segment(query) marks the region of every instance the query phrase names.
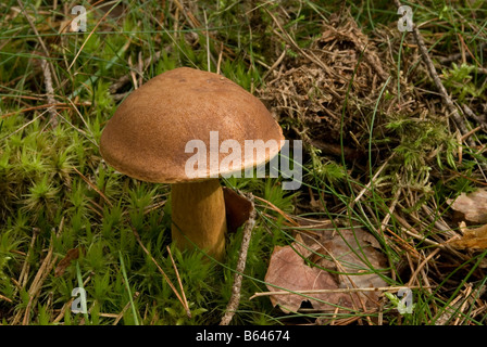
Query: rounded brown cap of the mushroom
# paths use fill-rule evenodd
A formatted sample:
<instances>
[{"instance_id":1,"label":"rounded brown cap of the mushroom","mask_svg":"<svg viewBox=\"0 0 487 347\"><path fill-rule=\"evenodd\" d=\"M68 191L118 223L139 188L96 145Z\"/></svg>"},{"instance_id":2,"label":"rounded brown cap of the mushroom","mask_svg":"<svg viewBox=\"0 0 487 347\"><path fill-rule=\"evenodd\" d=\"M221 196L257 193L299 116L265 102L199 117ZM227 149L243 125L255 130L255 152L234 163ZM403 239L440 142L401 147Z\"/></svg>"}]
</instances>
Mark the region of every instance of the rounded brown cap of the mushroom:
<instances>
[{"instance_id":1,"label":"rounded brown cap of the mushroom","mask_svg":"<svg viewBox=\"0 0 487 347\"><path fill-rule=\"evenodd\" d=\"M196 152L185 153L185 149L188 141L201 140L207 147L207 172L200 176L204 179L210 178L210 131L217 131L218 147L225 140L241 145L242 165L232 171L249 168L246 140L277 142L276 149L266 149L251 166L270 160L284 140L264 104L244 88L217 74L179 67L150 79L122 102L103 129L100 152L122 174L177 183L193 180L187 177L185 165ZM220 162L226 156L218 152Z\"/></svg>"}]
</instances>

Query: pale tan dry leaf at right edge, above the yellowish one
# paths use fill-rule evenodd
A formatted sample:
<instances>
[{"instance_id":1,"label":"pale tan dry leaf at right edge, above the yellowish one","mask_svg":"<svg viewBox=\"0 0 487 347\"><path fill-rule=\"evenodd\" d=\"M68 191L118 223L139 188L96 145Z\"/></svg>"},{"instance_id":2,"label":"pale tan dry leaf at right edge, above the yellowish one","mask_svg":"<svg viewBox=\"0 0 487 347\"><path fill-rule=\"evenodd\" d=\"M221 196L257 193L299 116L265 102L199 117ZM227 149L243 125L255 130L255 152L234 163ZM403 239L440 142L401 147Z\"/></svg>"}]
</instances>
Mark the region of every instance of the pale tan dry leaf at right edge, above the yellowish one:
<instances>
[{"instance_id":1,"label":"pale tan dry leaf at right edge, above the yellowish one","mask_svg":"<svg viewBox=\"0 0 487 347\"><path fill-rule=\"evenodd\" d=\"M463 215L465 220L474 223L487 223L487 190L461 193L455 201L449 200L451 208Z\"/></svg>"}]
</instances>

